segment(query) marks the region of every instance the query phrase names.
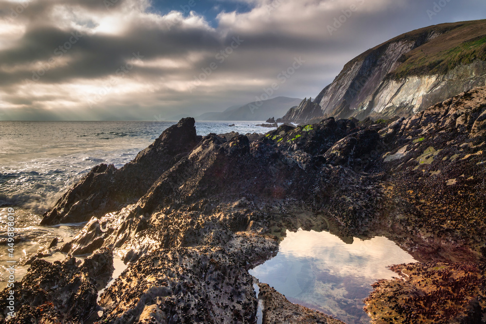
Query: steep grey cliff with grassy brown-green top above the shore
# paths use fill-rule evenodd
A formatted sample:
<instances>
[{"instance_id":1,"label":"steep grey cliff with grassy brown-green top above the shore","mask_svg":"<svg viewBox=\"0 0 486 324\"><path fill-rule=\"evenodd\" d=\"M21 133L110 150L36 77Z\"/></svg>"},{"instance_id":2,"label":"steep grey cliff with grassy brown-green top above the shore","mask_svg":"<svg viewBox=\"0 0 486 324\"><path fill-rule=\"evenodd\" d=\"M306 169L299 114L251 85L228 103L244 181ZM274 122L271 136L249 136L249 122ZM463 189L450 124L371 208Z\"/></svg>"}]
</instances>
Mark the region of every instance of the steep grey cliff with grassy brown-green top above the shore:
<instances>
[{"instance_id":1,"label":"steep grey cliff with grassy brown-green top above the shore","mask_svg":"<svg viewBox=\"0 0 486 324\"><path fill-rule=\"evenodd\" d=\"M358 119L410 117L486 79L486 20L442 24L400 35L351 60L314 103L282 121L316 115Z\"/></svg>"}]
</instances>

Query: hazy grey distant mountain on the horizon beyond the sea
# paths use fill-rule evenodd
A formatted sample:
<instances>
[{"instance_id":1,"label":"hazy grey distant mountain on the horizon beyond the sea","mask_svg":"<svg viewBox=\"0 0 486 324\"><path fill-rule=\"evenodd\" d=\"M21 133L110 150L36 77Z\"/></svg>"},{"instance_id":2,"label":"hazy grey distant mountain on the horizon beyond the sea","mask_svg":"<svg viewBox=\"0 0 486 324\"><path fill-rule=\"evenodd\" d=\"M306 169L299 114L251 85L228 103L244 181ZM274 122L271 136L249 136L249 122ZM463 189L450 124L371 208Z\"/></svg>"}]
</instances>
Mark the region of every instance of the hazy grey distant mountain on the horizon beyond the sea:
<instances>
[{"instance_id":1,"label":"hazy grey distant mountain on the horizon beyond the sea","mask_svg":"<svg viewBox=\"0 0 486 324\"><path fill-rule=\"evenodd\" d=\"M283 116L289 108L298 105L302 99L277 97L243 106L231 106L223 112L204 113L196 120L267 120Z\"/></svg>"}]
</instances>

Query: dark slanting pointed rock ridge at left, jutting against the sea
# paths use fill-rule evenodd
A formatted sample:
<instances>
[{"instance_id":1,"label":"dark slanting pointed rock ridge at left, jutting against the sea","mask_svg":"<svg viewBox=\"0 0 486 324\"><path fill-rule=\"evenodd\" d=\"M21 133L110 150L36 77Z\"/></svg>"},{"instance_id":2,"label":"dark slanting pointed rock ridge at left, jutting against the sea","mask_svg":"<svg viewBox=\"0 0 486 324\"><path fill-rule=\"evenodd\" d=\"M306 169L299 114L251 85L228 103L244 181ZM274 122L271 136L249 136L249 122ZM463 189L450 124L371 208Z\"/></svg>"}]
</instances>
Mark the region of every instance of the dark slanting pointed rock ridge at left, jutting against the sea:
<instances>
[{"instance_id":1,"label":"dark slanting pointed rock ridge at left, jutting against the sea","mask_svg":"<svg viewBox=\"0 0 486 324\"><path fill-rule=\"evenodd\" d=\"M92 216L99 217L133 204L164 171L189 153L199 139L194 119L181 119L121 169L105 164L94 167L43 215L41 225L86 222Z\"/></svg>"}]
</instances>

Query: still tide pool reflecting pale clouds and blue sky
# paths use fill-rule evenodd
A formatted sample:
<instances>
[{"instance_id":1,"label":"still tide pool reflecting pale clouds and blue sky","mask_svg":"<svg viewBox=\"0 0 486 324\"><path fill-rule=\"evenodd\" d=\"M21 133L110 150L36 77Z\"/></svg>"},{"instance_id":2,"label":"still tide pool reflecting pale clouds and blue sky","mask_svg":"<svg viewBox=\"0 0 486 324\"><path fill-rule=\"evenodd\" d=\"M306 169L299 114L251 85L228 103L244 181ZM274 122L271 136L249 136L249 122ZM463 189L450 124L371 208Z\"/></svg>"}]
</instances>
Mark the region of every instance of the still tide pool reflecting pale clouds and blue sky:
<instances>
[{"instance_id":1,"label":"still tide pool reflecting pale clouds and blue sky","mask_svg":"<svg viewBox=\"0 0 486 324\"><path fill-rule=\"evenodd\" d=\"M369 323L363 299L378 279L396 273L386 267L417 262L384 237L346 244L328 232L287 231L277 256L250 270L292 303L315 308L346 323Z\"/></svg>"}]
</instances>

